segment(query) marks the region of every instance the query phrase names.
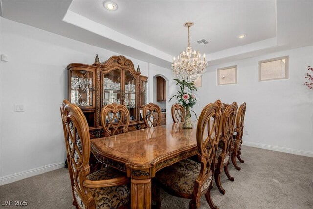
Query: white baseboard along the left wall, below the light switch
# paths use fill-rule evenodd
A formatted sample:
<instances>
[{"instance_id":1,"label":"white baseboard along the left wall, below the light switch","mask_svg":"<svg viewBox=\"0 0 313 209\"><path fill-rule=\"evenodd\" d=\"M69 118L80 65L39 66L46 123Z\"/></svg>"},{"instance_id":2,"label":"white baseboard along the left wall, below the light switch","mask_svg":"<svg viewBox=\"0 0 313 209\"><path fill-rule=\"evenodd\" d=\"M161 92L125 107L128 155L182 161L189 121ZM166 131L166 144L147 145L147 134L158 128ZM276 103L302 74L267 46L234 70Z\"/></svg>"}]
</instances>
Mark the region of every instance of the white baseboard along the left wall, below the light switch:
<instances>
[{"instance_id":1,"label":"white baseboard along the left wall, below the light switch","mask_svg":"<svg viewBox=\"0 0 313 209\"><path fill-rule=\"evenodd\" d=\"M5 185L5 184L9 184L11 182L15 182L15 181L19 181L21 179L25 179L28 177L32 177L32 176L36 176L39 174L43 174L52 170L56 170L59 168L64 167L64 162L60 162L60 163L53 163L53 164L49 164L49 165L45 165L42 167L38 167L38 168L34 168L31 170L27 170L27 171L22 171L19 173L15 173L15 174L11 174L11 175L7 175L7 176L3 176L0 178L0 185Z\"/></svg>"}]
</instances>

